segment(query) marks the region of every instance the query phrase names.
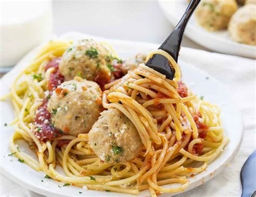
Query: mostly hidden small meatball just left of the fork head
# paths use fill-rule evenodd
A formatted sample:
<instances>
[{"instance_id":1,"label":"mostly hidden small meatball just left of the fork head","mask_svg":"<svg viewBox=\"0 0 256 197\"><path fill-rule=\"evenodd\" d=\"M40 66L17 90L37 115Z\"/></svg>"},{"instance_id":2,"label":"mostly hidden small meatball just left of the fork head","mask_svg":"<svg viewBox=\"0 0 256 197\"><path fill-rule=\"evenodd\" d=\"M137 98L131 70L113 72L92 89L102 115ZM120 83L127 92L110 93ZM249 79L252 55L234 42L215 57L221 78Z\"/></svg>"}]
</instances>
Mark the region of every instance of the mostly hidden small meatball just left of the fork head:
<instances>
[{"instance_id":1,"label":"mostly hidden small meatball just left of the fork head","mask_svg":"<svg viewBox=\"0 0 256 197\"><path fill-rule=\"evenodd\" d=\"M136 69L140 63L146 63L146 53L138 53L135 58L127 59L123 62L121 71L125 75L128 71Z\"/></svg>"}]
</instances>

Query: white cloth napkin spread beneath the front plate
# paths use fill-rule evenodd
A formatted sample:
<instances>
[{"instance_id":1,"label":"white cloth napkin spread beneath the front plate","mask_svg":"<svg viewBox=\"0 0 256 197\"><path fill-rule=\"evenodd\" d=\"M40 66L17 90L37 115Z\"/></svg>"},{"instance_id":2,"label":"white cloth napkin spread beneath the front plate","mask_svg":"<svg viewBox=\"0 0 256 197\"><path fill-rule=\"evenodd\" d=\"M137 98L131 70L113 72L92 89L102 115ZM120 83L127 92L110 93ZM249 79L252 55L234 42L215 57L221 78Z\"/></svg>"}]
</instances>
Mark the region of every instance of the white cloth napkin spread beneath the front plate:
<instances>
[{"instance_id":1,"label":"white cloth napkin spread beneath the front plate","mask_svg":"<svg viewBox=\"0 0 256 197\"><path fill-rule=\"evenodd\" d=\"M255 52L256 57L256 52ZM244 139L237 156L223 172L205 184L177 196L240 196L241 167L254 151L256 61L182 47L180 59L197 66L225 84L239 104L244 119ZM252 172L253 173L253 172ZM255 173L255 172L254 172ZM256 176L255 176L256 177ZM1 174L1 196L42 196L19 186Z\"/></svg>"}]
</instances>

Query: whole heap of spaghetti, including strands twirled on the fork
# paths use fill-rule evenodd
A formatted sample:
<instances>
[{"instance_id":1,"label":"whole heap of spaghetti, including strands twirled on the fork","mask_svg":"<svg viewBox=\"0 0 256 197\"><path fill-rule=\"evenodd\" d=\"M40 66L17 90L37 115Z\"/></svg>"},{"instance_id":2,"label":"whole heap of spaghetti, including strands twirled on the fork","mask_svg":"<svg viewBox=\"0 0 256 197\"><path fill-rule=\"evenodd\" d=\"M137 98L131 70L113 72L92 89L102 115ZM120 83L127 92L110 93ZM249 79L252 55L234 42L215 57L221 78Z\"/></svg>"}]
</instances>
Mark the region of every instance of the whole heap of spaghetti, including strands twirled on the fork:
<instances>
[{"instance_id":1,"label":"whole heap of spaghetti, including strands twirled on the fork","mask_svg":"<svg viewBox=\"0 0 256 197\"><path fill-rule=\"evenodd\" d=\"M137 158L107 164L93 153L86 133L76 137L60 132L40 140L33 132L37 110L44 106L45 92L49 94L53 86L63 82L54 63L69 46L69 42L50 42L11 86L16 118L11 123L15 133L10 148L32 168L73 186L129 194L149 189L156 196L184 191L190 184L188 177L204 171L227 144L219 108L187 89L180 81L179 66L162 50L152 51L147 59L156 53L169 59L176 71L173 80L140 64L123 78L106 84L103 93L103 107L117 108L136 127L144 145ZM51 80L56 76L58 80ZM27 141L38 160L19 151L17 139ZM65 175L56 171L57 165ZM163 187L166 184L179 186Z\"/></svg>"}]
</instances>

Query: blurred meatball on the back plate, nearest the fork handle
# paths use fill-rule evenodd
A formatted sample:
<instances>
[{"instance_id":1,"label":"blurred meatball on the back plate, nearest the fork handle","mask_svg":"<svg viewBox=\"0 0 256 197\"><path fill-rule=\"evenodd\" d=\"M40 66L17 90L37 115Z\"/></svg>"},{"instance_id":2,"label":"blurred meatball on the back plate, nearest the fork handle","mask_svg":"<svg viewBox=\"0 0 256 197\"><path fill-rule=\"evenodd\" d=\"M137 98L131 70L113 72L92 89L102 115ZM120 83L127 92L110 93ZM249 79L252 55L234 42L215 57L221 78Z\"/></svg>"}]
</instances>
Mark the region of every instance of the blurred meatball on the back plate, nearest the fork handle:
<instances>
[{"instance_id":1,"label":"blurred meatball on the back plate, nearest the fork handle","mask_svg":"<svg viewBox=\"0 0 256 197\"><path fill-rule=\"evenodd\" d=\"M235 0L203 0L196 10L196 18L209 31L221 30L227 27L237 8Z\"/></svg>"}]
</instances>

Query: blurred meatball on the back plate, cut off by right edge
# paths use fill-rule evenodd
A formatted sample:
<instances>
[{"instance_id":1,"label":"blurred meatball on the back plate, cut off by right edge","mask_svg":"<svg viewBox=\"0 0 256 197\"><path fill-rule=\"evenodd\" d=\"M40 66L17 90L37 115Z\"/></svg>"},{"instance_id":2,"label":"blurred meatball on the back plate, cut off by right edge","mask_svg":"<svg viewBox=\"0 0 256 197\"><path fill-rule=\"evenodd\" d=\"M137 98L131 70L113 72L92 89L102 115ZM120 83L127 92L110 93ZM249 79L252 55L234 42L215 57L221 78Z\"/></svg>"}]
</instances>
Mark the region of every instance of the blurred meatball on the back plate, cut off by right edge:
<instances>
[{"instance_id":1,"label":"blurred meatball on the back plate, cut off by right edge","mask_svg":"<svg viewBox=\"0 0 256 197\"><path fill-rule=\"evenodd\" d=\"M247 4L238 9L228 24L228 32L235 42L256 45L256 5Z\"/></svg>"}]
</instances>

